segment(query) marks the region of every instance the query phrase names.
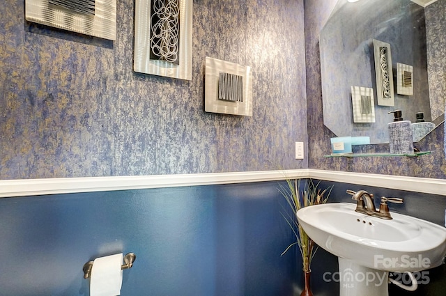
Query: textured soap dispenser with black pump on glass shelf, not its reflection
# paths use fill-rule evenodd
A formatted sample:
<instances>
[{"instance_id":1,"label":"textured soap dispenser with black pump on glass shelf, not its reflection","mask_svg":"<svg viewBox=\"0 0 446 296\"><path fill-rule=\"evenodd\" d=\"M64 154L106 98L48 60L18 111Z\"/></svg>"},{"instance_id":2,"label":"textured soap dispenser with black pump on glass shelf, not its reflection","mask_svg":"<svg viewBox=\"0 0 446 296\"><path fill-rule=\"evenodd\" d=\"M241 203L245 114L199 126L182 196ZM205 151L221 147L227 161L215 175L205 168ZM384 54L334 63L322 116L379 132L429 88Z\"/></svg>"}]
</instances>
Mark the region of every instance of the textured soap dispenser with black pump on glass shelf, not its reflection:
<instances>
[{"instance_id":1,"label":"textured soap dispenser with black pump on glass shelf, not its reflection","mask_svg":"<svg viewBox=\"0 0 446 296\"><path fill-rule=\"evenodd\" d=\"M413 154L413 133L410 120L403 120L401 110L390 111L394 114L392 123L389 123L390 153Z\"/></svg>"}]
</instances>

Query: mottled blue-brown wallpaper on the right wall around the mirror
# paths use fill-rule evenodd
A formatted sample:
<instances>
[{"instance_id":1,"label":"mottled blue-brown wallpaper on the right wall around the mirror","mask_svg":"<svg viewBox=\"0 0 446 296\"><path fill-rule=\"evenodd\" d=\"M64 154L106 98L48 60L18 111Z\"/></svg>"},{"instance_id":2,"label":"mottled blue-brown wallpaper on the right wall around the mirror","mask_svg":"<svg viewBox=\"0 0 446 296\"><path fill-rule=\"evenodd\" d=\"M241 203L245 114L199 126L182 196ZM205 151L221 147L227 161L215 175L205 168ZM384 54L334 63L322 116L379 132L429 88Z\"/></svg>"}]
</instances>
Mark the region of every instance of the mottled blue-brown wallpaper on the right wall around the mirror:
<instances>
[{"instance_id":1,"label":"mottled blue-brown wallpaper on the right wall around the mirror","mask_svg":"<svg viewBox=\"0 0 446 296\"><path fill-rule=\"evenodd\" d=\"M330 137L336 137L323 125L319 32L328 20L337 0L305 0L305 54L307 70L307 116L309 134L309 168L358 173L382 173L396 176L446 178L443 149L444 125L440 125L415 146L431 155L408 157L325 158L331 153ZM333 110L339 112L339 110ZM356 153L389 152L388 144L354 146Z\"/></svg>"}]
</instances>

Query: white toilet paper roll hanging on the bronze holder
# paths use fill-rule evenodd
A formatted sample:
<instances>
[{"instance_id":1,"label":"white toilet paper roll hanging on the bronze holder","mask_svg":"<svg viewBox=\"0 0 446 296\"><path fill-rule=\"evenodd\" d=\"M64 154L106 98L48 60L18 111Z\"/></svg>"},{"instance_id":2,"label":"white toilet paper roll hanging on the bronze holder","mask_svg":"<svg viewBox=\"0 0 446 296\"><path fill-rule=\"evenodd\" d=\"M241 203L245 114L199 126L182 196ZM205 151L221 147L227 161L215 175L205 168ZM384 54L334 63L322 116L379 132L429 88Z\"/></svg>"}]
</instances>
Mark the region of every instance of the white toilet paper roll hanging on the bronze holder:
<instances>
[{"instance_id":1,"label":"white toilet paper roll hanging on the bronze holder","mask_svg":"<svg viewBox=\"0 0 446 296\"><path fill-rule=\"evenodd\" d=\"M96 258L91 268L90 296L120 295L123 282L122 264L122 253Z\"/></svg>"}]
</instances>

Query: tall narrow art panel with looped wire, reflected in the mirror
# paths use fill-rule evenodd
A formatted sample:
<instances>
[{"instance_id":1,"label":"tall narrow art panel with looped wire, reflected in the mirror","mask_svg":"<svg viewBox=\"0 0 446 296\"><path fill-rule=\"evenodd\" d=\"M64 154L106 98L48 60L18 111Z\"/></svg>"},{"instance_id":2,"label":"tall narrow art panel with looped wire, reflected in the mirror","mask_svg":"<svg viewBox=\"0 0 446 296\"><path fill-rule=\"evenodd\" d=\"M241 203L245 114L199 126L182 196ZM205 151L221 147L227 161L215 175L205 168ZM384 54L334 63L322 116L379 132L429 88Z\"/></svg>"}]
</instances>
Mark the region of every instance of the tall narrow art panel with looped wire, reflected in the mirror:
<instances>
[{"instance_id":1,"label":"tall narrow art panel with looped wire, reflected in the mirror","mask_svg":"<svg viewBox=\"0 0 446 296\"><path fill-rule=\"evenodd\" d=\"M392 54L390 44L374 39L376 95L378 105L394 106Z\"/></svg>"}]
</instances>

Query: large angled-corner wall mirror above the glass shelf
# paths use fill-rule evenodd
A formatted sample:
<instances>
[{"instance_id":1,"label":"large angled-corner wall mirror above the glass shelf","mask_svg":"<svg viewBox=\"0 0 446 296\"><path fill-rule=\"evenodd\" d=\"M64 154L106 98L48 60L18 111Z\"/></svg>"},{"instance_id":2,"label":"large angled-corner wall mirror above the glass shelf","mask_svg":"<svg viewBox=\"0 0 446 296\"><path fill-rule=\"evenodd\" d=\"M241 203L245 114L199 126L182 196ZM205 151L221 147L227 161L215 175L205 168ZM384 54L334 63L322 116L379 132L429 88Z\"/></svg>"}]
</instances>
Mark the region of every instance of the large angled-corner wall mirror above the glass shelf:
<instances>
[{"instance_id":1,"label":"large angled-corner wall mirror above the glass shelf","mask_svg":"<svg viewBox=\"0 0 446 296\"><path fill-rule=\"evenodd\" d=\"M426 7L420 5L422 1L426 0L337 2L319 38L323 121L337 137L368 136L370 143L388 143L387 124L393 120L388 112L395 109L401 109L403 118L412 123L417 112L423 112L424 119L437 126L444 121L446 0L429 0L431 4ZM385 106L382 100L378 104L380 83L376 83L374 40L375 47L389 47L388 73L393 83L388 85L393 91L394 106ZM404 70L407 65L412 67L410 75L409 70ZM406 77L410 76L410 80L406 79L410 84L401 82L401 72L397 75L401 69ZM400 94L399 90L408 85L413 95ZM374 122L357 117L354 122L353 102L366 96L352 86L367 89L366 93L371 94L367 98L373 96L371 106L359 112L370 112L372 108ZM370 100L364 102L370 104Z\"/></svg>"}]
</instances>

